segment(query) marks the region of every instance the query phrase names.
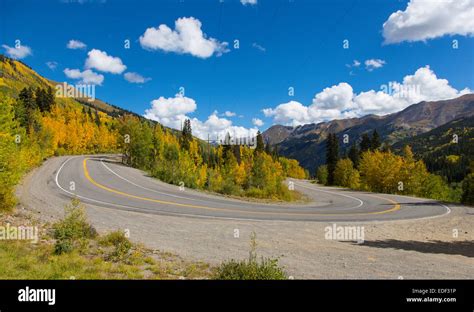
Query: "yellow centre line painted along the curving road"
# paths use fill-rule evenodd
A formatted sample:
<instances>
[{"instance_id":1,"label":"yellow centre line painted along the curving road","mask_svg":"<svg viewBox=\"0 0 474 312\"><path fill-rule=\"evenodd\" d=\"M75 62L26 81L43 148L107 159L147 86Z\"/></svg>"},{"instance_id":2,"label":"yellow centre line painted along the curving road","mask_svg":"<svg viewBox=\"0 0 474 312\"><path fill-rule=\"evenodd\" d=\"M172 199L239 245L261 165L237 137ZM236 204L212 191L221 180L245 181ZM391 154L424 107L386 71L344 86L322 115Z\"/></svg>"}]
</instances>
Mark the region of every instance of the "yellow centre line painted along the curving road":
<instances>
[{"instance_id":1,"label":"yellow centre line painted along the curving road","mask_svg":"<svg viewBox=\"0 0 474 312\"><path fill-rule=\"evenodd\" d=\"M225 208L216 208L216 207L207 207L207 206L199 206L199 205L191 205L191 204L182 204L182 203L176 203L176 202L169 202L169 201L164 201L164 200L158 200L154 198L148 198L148 197L141 197L141 196L136 196L132 194L128 194L122 191L118 191L112 188L109 188L105 185L102 185L98 182L96 182L94 179L89 174L89 170L87 169L87 160L90 158L84 158L84 161L82 163L82 166L84 168L84 175L89 182L91 182L93 185L97 186L98 188L101 188L103 190L106 190L111 193L119 194L125 197L129 198L135 198L135 199L140 199L144 201L149 201L149 202L154 202L154 203L160 203L160 204L166 204L166 205L173 205L173 206L180 206L180 207L187 207L187 208L195 208L195 209L204 209L204 210L212 210L212 211L225 211L225 212L241 212L241 213L249 213L249 214L283 214L283 215L294 215L294 216L315 216L315 215L320 215L320 216L350 216L350 215L371 215L371 214L383 214L383 213L389 213L389 212L394 212L400 209L400 204L397 203L396 201L393 201L388 198L383 198L379 197L377 195L367 195L367 196L372 196L372 197L377 197L386 201L389 201L394 204L394 206L391 209L388 210L383 210L383 211L375 211L375 212L360 212L360 213L350 213L350 214L329 214L329 213L296 213L296 212L265 212L265 211L246 211L246 210L234 210L234 209L225 209Z\"/></svg>"}]
</instances>

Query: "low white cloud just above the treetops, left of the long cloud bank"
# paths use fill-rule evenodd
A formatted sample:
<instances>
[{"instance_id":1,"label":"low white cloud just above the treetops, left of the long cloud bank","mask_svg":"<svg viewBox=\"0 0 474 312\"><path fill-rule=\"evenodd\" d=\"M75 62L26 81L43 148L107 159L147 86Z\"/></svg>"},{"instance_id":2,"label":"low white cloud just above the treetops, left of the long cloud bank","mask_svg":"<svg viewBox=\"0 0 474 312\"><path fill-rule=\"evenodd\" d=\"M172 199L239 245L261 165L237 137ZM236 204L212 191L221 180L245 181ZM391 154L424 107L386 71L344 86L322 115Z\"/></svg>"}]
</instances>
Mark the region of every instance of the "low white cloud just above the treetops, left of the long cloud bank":
<instances>
[{"instance_id":1,"label":"low white cloud just above the treetops, left of the long cloud bank","mask_svg":"<svg viewBox=\"0 0 474 312\"><path fill-rule=\"evenodd\" d=\"M151 102L152 107L145 110L144 117L156 120L159 123L174 129L180 129L185 119L191 120L193 134L203 140L208 135L211 139L224 138L227 132L232 137L255 136L257 128L245 128L234 126L232 121L226 118L220 118L214 111L208 116L207 120L201 121L197 118L191 118L187 114L193 113L197 109L196 102L184 96L177 94L173 98L160 97Z\"/></svg>"}]
</instances>

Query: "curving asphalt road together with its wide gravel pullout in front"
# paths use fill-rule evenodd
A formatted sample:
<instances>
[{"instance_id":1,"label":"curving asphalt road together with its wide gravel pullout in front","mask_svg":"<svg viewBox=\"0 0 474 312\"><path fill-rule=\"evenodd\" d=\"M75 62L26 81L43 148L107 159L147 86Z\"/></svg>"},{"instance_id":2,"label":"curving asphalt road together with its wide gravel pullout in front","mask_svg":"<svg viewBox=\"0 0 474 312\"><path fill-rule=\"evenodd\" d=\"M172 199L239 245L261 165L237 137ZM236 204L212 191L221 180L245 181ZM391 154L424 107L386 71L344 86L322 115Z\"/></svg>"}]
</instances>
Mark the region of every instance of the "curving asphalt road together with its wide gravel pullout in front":
<instances>
[{"instance_id":1,"label":"curving asphalt road together with its wide gravel pullout in front","mask_svg":"<svg viewBox=\"0 0 474 312\"><path fill-rule=\"evenodd\" d=\"M313 199L307 205L252 204L179 191L110 158L89 157L89 179L86 158L54 157L30 172L17 188L20 209L55 222L77 194L99 232L127 230L134 242L151 249L216 265L248 257L255 232L258 254L279 257L295 278L474 277L474 211L469 207L449 205L448 210L429 200L305 181L294 182ZM364 243L327 239L327 227L336 224L365 228Z\"/></svg>"}]
</instances>

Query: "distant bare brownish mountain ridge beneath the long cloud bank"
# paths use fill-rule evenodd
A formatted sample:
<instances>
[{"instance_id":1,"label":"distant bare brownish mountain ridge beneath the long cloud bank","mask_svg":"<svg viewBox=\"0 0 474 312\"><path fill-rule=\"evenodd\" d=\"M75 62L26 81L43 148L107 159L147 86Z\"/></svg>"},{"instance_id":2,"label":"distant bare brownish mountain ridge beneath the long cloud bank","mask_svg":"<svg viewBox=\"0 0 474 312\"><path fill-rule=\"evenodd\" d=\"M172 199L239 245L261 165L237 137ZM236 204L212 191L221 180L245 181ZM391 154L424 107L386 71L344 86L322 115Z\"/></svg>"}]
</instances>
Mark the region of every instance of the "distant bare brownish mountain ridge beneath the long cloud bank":
<instances>
[{"instance_id":1,"label":"distant bare brownish mountain ridge beneath the long cloud bank","mask_svg":"<svg viewBox=\"0 0 474 312\"><path fill-rule=\"evenodd\" d=\"M451 100L420 102L385 116L367 115L294 128L276 125L263 132L263 137L271 145L277 145L282 156L297 159L314 173L315 168L325 162L325 141L331 132L338 134L344 153L362 134L373 130L377 130L384 142L394 144L454 119L473 115L474 94L466 94ZM342 142L344 134L349 136L348 144Z\"/></svg>"}]
</instances>

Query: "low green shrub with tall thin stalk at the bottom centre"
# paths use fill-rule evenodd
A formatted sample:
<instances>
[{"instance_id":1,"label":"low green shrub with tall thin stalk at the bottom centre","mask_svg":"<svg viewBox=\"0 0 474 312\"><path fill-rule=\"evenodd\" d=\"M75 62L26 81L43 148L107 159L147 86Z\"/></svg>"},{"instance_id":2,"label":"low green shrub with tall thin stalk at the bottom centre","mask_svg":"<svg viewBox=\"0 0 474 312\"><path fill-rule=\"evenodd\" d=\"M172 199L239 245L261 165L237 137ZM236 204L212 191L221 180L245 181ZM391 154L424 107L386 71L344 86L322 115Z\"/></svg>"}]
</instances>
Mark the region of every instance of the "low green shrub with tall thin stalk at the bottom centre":
<instances>
[{"instance_id":1,"label":"low green shrub with tall thin stalk at the bottom centre","mask_svg":"<svg viewBox=\"0 0 474 312\"><path fill-rule=\"evenodd\" d=\"M223 262L215 272L219 280L284 280L287 274L279 266L277 258L260 258L256 253L256 235L252 233L247 260Z\"/></svg>"}]
</instances>

